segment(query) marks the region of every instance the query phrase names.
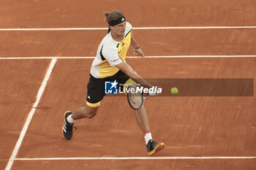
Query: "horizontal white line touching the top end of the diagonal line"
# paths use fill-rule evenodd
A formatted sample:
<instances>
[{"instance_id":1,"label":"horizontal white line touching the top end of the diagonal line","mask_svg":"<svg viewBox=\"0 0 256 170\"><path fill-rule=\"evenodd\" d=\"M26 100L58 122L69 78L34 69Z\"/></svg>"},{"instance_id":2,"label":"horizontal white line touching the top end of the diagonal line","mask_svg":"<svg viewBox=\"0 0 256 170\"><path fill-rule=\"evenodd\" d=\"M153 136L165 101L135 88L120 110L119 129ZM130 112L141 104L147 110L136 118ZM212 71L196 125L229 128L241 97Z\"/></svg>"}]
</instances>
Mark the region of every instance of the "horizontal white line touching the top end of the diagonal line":
<instances>
[{"instance_id":1,"label":"horizontal white line touching the top end of the diagonal line","mask_svg":"<svg viewBox=\"0 0 256 170\"><path fill-rule=\"evenodd\" d=\"M146 58L253 58L256 55L162 55L146 56ZM0 60L29 60L29 59L93 59L95 56L69 56L69 57L0 57ZM140 58L127 56L126 58Z\"/></svg>"}]
</instances>

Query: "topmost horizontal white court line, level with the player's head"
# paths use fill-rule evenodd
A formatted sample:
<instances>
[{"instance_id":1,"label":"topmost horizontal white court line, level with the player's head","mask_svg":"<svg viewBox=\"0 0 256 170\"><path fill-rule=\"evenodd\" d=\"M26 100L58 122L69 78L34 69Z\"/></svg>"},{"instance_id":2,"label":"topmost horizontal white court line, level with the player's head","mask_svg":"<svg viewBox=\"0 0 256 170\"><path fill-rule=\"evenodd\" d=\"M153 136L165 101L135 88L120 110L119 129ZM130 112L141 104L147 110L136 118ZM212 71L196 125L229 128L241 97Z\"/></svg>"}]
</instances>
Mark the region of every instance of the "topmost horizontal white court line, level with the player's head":
<instances>
[{"instance_id":1,"label":"topmost horizontal white court line, level with the player's head","mask_svg":"<svg viewBox=\"0 0 256 170\"><path fill-rule=\"evenodd\" d=\"M238 29L256 28L256 26L168 26L168 27L134 27L132 29ZM0 31L96 31L108 28L0 28Z\"/></svg>"}]
</instances>

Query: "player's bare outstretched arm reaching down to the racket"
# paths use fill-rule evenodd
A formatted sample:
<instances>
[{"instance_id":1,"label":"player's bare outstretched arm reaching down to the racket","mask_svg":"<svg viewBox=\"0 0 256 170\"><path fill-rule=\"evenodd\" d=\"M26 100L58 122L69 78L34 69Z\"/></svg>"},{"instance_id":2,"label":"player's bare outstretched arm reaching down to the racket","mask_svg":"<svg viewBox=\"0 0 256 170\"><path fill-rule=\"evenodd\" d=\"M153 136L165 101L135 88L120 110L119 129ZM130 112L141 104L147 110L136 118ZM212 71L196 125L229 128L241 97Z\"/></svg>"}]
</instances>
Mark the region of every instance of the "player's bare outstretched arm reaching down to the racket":
<instances>
[{"instance_id":1,"label":"player's bare outstretched arm reaching down to the racket","mask_svg":"<svg viewBox=\"0 0 256 170\"><path fill-rule=\"evenodd\" d=\"M146 82L146 80L144 80L143 77L140 77L140 75L137 72L135 72L127 62L123 61L121 63L118 63L116 66L118 67L118 69L124 72L124 74L127 74L127 76L129 76L133 81L142 85L143 87L145 88L153 87L153 85Z\"/></svg>"}]
</instances>

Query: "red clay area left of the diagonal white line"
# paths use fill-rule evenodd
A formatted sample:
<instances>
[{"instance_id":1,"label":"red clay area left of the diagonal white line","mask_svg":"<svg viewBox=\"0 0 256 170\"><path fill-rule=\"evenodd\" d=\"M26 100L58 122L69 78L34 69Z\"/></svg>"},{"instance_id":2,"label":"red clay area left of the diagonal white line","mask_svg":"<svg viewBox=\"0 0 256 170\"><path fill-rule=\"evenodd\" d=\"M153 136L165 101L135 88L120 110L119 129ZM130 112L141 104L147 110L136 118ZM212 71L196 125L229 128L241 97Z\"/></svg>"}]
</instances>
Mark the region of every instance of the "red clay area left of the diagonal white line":
<instances>
[{"instance_id":1,"label":"red clay area left of the diagonal white line","mask_svg":"<svg viewBox=\"0 0 256 170\"><path fill-rule=\"evenodd\" d=\"M42 60L0 61L0 160L9 160L48 64Z\"/></svg>"}]
</instances>

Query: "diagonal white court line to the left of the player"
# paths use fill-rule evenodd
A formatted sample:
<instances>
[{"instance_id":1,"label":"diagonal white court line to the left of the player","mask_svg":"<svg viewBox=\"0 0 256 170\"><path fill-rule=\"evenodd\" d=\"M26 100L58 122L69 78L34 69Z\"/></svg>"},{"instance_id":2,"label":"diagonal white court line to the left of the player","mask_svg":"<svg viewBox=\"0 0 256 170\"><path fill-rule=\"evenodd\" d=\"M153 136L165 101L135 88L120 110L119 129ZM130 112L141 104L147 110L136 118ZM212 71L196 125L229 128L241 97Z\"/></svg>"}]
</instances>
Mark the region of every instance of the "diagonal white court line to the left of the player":
<instances>
[{"instance_id":1,"label":"diagonal white court line to the left of the player","mask_svg":"<svg viewBox=\"0 0 256 170\"><path fill-rule=\"evenodd\" d=\"M23 138L24 138L24 136L25 136L25 134L26 134L26 131L27 131L28 128L29 128L29 123L31 122L31 119L32 119L32 117L33 117L33 115L34 115L34 111L35 111L36 108L37 108L37 105L38 105L38 103L39 103L39 101L40 101L40 98L42 97L42 93L43 93L44 90L45 90L45 86L46 86L46 84L47 84L47 82L48 82L48 80L49 80L49 78L50 78L50 74L51 74L51 72L53 71L53 67L55 66L56 61L57 61L57 59L53 59L53 60L50 62L50 65L49 65L49 67L48 67L48 70L47 70L47 72L46 72L46 74L45 74L45 78L44 78L44 80L42 81L41 87L39 88L39 90L38 90L38 92L37 92L37 101L34 102L33 107L31 108L31 110L30 110L30 112L29 112L29 116L28 116L27 119L26 119L26 123L25 123L25 125L23 126L23 129L22 129L22 131L21 131L21 133L20 133L19 139L18 139L18 141L17 141L17 143L16 143L16 145L15 145L14 150L12 151L12 155L11 155L11 157L10 157L8 163L7 163L7 166L6 166L5 170L10 170L10 169L12 168L12 163L13 163L13 161L15 161L15 158L16 158L16 155L17 155L17 153L18 153L18 150L20 149L21 142L23 141Z\"/></svg>"}]
</instances>

